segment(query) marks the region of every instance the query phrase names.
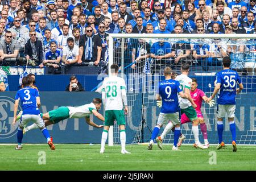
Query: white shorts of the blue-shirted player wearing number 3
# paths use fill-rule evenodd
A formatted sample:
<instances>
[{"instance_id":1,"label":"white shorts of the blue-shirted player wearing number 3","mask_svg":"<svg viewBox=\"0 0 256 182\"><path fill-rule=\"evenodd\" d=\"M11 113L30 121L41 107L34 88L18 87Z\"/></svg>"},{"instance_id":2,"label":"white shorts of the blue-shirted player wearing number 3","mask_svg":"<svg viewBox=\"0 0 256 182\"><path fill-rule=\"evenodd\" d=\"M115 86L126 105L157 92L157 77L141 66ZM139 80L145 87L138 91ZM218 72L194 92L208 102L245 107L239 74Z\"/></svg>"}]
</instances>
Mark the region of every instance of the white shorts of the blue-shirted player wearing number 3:
<instances>
[{"instance_id":1,"label":"white shorts of the blue-shirted player wearing number 3","mask_svg":"<svg viewBox=\"0 0 256 182\"><path fill-rule=\"evenodd\" d=\"M34 122L36 124L36 126L38 126L39 128L44 128L44 121L41 118L40 114L38 115L34 115L34 114L22 114L22 117L20 117L20 126L21 127L26 127L28 122Z\"/></svg>"}]
</instances>

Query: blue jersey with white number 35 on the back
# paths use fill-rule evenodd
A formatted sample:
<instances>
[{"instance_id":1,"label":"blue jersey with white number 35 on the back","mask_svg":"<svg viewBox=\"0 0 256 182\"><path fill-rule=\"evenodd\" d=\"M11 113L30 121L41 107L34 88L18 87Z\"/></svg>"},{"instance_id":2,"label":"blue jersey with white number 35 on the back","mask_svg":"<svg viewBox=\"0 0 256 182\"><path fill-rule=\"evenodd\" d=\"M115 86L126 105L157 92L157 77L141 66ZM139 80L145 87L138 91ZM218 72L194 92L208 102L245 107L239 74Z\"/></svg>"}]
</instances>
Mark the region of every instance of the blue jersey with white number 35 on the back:
<instances>
[{"instance_id":1,"label":"blue jersey with white number 35 on the back","mask_svg":"<svg viewBox=\"0 0 256 182\"><path fill-rule=\"evenodd\" d=\"M236 71L224 69L217 73L217 84L220 83L218 93L218 104L235 105L236 104L236 83L241 83L241 78Z\"/></svg>"}]
</instances>

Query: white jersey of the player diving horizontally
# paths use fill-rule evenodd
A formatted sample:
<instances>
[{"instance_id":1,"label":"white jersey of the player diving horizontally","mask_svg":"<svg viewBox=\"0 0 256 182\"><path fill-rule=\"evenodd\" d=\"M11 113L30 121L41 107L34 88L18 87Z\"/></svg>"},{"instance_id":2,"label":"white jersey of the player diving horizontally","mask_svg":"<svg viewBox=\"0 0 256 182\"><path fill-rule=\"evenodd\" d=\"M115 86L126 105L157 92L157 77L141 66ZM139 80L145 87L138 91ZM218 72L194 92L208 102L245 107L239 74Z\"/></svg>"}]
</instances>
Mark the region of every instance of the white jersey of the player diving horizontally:
<instances>
[{"instance_id":1,"label":"white jersey of the player diving horizontally","mask_svg":"<svg viewBox=\"0 0 256 182\"><path fill-rule=\"evenodd\" d=\"M92 114L92 110L96 109L96 106L91 102L78 107L68 106L69 118L84 118Z\"/></svg>"}]
</instances>

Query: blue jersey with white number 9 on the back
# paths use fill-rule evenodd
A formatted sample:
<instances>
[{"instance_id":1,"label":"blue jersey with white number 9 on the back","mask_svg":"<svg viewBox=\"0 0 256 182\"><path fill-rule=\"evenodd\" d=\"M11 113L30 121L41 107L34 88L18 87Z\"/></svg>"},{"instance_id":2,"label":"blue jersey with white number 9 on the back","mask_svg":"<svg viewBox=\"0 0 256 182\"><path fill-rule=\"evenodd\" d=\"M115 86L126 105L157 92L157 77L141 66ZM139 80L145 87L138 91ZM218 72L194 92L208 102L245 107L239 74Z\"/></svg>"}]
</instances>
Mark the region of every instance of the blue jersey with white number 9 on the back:
<instances>
[{"instance_id":1,"label":"blue jersey with white number 9 on the back","mask_svg":"<svg viewBox=\"0 0 256 182\"><path fill-rule=\"evenodd\" d=\"M158 85L158 93L162 97L161 113L171 114L179 111L179 100L177 93L182 92L180 83L176 80L160 81Z\"/></svg>"}]
</instances>

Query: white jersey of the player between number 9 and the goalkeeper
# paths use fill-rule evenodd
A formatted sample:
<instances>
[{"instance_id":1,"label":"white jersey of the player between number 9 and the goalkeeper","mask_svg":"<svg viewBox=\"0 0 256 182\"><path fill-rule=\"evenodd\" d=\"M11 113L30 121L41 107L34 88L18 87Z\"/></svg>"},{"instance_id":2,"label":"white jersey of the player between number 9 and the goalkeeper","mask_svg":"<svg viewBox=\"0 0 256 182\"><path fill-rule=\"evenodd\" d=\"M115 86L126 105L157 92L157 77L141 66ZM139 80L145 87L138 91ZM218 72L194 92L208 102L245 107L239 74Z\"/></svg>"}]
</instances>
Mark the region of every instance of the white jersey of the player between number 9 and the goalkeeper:
<instances>
[{"instance_id":1,"label":"white jersey of the player between number 9 and the goalkeeper","mask_svg":"<svg viewBox=\"0 0 256 182\"><path fill-rule=\"evenodd\" d=\"M180 89L183 90L184 88L191 89L192 79L189 78L187 75L178 75L176 76L175 80L180 82ZM180 95L178 95L179 102L180 102L180 109L186 109L187 107L191 106L191 102L187 100L187 98L181 98Z\"/></svg>"}]
</instances>

